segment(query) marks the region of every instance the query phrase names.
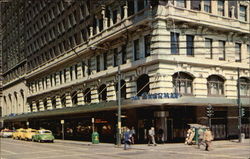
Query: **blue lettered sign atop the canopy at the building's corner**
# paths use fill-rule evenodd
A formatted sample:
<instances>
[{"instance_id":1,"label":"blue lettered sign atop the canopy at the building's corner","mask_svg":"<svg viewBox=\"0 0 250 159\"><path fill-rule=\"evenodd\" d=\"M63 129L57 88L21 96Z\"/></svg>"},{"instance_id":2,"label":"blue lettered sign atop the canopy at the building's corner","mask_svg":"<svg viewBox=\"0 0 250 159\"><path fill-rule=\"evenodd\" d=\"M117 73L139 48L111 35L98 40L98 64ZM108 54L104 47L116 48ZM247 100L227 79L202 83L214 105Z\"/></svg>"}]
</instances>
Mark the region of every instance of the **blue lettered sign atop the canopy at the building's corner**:
<instances>
[{"instance_id":1,"label":"blue lettered sign atop the canopy at the building's corner","mask_svg":"<svg viewBox=\"0 0 250 159\"><path fill-rule=\"evenodd\" d=\"M153 94L147 94L143 93L141 96L133 96L131 97L131 100L140 100L140 99L177 99L180 98L180 93L153 93Z\"/></svg>"}]
</instances>

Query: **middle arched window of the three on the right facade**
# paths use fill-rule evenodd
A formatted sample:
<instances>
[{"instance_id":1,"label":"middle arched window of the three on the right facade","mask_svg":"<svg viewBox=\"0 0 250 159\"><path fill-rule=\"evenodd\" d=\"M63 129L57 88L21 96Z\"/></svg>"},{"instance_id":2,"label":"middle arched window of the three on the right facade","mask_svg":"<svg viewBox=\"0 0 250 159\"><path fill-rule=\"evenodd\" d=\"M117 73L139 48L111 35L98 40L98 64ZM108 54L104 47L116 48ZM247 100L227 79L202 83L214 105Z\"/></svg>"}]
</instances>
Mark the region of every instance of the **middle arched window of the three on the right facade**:
<instances>
[{"instance_id":1,"label":"middle arched window of the three on the right facade","mask_svg":"<svg viewBox=\"0 0 250 159\"><path fill-rule=\"evenodd\" d=\"M207 78L208 95L224 95L224 79L211 75Z\"/></svg>"}]
</instances>

